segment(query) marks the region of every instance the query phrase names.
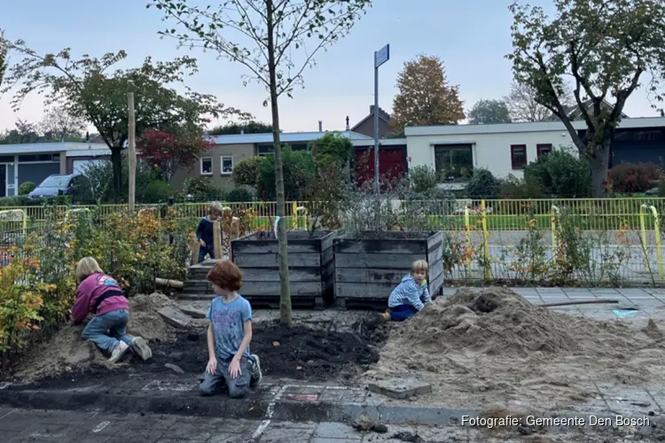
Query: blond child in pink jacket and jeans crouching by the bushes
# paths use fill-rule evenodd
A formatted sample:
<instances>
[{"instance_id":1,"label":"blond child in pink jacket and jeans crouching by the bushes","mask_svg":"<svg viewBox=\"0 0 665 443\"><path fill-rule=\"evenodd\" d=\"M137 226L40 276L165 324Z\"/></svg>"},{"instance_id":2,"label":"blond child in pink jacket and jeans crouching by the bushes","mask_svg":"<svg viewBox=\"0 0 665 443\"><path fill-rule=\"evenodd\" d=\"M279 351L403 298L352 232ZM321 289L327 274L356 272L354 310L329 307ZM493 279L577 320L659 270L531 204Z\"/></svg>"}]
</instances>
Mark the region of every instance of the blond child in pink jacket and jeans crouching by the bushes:
<instances>
[{"instance_id":1,"label":"blond child in pink jacket and jeans crouching by the bushes","mask_svg":"<svg viewBox=\"0 0 665 443\"><path fill-rule=\"evenodd\" d=\"M95 315L82 332L84 340L94 342L111 354L111 363L119 361L131 348L142 359L153 356L144 338L127 335L129 303L118 283L106 276L97 260L84 257L76 264L76 301L72 323L82 323L88 314Z\"/></svg>"}]
</instances>

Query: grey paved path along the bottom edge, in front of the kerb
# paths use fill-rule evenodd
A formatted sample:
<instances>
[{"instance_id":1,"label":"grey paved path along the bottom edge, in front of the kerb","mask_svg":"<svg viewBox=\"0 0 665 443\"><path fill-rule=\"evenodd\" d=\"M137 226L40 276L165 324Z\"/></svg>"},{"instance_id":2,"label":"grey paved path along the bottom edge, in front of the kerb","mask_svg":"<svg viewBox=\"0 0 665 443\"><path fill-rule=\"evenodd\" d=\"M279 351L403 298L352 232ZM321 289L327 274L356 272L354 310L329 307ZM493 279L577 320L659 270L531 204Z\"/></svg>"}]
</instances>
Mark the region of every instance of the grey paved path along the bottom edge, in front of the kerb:
<instances>
[{"instance_id":1,"label":"grey paved path along the bottom edge, in front of the kerb","mask_svg":"<svg viewBox=\"0 0 665 443\"><path fill-rule=\"evenodd\" d=\"M655 422L654 422L655 423ZM277 422L152 414L103 414L97 411L58 411L0 408L0 441L6 443L381 443L601 442L622 438L656 441L661 424L648 433L630 426L571 426L532 432L528 426L505 429L480 427L391 426L382 433L356 431L332 422ZM654 431L655 430L655 431ZM537 434L537 436L536 436ZM555 439L548 439L548 436ZM541 437L544 439L537 439ZM618 439L617 439L618 438ZM654 439L650 439L654 438ZM536 441L531 440L531 441Z\"/></svg>"}]
</instances>

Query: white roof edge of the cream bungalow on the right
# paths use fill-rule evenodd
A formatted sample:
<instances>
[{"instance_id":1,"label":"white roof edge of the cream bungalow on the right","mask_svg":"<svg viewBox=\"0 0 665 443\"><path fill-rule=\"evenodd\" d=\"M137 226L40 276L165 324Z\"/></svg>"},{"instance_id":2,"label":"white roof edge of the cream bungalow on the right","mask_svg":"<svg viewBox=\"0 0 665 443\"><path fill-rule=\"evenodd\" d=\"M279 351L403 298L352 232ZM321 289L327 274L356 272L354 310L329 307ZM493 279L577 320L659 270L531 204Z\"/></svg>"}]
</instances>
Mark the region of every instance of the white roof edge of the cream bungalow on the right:
<instances>
[{"instance_id":1,"label":"white roof edge of the cream bungalow on the right","mask_svg":"<svg viewBox=\"0 0 665 443\"><path fill-rule=\"evenodd\" d=\"M573 128L586 129L582 120L573 121ZM619 129L665 127L665 117L639 117L619 122ZM523 123L500 123L494 125L435 125L407 126L405 136L455 136L470 134L502 134L514 132L566 131L562 121L536 121Z\"/></svg>"}]
</instances>

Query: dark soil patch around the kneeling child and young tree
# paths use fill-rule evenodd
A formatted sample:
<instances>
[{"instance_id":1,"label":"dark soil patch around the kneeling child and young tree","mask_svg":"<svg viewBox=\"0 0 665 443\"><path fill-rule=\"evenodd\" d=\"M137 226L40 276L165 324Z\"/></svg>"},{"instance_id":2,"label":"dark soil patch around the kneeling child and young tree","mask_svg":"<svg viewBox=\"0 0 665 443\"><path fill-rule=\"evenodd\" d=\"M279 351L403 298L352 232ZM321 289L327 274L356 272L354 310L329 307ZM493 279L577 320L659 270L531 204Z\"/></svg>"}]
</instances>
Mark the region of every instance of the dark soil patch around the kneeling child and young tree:
<instances>
[{"instance_id":1,"label":"dark soil patch around the kneeling child and young tree","mask_svg":"<svg viewBox=\"0 0 665 443\"><path fill-rule=\"evenodd\" d=\"M370 364L379 361L379 348L387 340L389 325L380 323L356 325L360 334L312 330L303 326L288 329L278 323L254 326L250 345L252 354L261 357L264 376L288 377L309 381L350 379ZM182 333L170 340L152 340L153 358L141 361L128 355L127 365L112 372L141 377L149 374L202 374L208 360L206 332ZM167 366L168 364L168 366ZM173 365L176 365L174 369ZM43 380L45 385L59 385L75 377L78 383L87 379L108 377L109 369L99 365L83 371ZM40 383L42 385L42 383Z\"/></svg>"}]
</instances>

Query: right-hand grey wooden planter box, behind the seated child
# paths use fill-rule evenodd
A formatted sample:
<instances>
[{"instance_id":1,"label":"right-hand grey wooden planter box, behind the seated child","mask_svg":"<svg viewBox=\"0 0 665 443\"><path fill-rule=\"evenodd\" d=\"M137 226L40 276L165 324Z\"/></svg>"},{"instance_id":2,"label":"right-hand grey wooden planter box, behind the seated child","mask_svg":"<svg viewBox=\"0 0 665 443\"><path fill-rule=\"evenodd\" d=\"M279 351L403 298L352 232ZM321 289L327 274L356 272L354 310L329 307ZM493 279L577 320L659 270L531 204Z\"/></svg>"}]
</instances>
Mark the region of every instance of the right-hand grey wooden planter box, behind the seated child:
<instances>
[{"instance_id":1,"label":"right-hand grey wooden planter box, behind the seated child","mask_svg":"<svg viewBox=\"0 0 665 443\"><path fill-rule=\"evenodd\" d=\"M419 259L429 264L430 294L439 295L443 287L442 243L441 232L394 232L372 240L335 239L335 298L347 308L385 308L390 292Z\"/></svg>"}]
</instances>

